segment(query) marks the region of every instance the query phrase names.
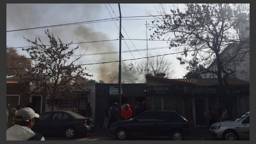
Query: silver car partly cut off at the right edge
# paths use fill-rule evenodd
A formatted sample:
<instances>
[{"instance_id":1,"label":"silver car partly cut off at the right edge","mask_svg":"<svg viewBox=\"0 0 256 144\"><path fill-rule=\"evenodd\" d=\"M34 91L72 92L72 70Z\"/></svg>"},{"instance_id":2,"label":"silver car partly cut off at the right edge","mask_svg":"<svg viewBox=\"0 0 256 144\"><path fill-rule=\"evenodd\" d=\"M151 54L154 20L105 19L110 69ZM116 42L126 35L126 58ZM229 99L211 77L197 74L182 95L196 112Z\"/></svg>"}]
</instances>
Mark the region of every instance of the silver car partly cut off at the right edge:
<instances>
[{"instance_id":1,"label":"silver car partly cut off at the right edge","mask_svg":"<svg viewBox=\"0 0 256 144\"><path fill-rule=\"evenodd\" d=\"M250 139L250 112L246 112L232 121L214 123L209 131L210 135L216 139Z\"/></svg>"}]
</instances>

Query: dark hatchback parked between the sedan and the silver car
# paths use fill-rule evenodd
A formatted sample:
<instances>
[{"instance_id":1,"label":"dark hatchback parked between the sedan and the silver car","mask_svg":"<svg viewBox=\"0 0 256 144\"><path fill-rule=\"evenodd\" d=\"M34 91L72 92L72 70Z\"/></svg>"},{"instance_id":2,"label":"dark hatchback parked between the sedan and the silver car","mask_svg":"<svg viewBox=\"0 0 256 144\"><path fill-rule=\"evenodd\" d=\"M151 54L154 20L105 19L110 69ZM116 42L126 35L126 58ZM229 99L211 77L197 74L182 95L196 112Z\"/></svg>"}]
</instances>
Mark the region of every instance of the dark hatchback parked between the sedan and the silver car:
<instances>
[{"instance_id":1,"label":"dark hatchback parked between the sedan and the silver car","mask_svg":"<svg viewBox=\"0 0 256 144\"><path fill-rule=\"evenodd\" d=\"M175 111L145 111L140 115L110 125L110 133L119 140L129 136L170 136L183 140L190 134L188 121Z\"/></svg>"}]
</instances>

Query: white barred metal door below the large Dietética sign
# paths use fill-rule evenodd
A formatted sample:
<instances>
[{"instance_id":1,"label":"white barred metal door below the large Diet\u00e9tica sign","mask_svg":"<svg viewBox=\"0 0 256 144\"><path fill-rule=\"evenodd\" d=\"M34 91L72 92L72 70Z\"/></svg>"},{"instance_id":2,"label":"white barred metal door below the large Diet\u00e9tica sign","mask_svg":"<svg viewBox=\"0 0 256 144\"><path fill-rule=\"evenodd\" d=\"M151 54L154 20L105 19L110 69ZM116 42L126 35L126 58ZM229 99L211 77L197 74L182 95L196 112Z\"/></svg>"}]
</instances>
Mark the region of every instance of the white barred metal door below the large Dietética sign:
<instances>
[{"instance_id":1,"label":"white barred metal door below the large Diet\u00e9tica sign","mask_svg":"<svg viewBox=\"0 0 256 144\"><path fill-rule=\"evenodd\" d=\"M195 98L195 125L207 126L206 114L206 98Z\"/></svg>"}]
</instances>

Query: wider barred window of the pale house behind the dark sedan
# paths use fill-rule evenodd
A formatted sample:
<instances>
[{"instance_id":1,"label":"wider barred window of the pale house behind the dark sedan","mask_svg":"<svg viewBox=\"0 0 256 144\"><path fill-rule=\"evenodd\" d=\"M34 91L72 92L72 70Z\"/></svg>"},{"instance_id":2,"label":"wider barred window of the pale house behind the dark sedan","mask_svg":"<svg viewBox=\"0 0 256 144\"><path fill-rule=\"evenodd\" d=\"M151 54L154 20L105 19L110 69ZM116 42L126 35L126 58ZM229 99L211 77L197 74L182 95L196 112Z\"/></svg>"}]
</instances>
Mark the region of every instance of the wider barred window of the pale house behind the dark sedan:
<instances>
[{"instance_id":1,"label":"wider barred window of the pale house behind the dark sedan","mask_svg":"<svg viewBox=\"0 0 256 144\"><path fill-rule=\"evenodd\" d=\"M58 110L71 111L74 104L77 104L77 99L59 99L58 100Z\"/></svg>"}]
</instances>

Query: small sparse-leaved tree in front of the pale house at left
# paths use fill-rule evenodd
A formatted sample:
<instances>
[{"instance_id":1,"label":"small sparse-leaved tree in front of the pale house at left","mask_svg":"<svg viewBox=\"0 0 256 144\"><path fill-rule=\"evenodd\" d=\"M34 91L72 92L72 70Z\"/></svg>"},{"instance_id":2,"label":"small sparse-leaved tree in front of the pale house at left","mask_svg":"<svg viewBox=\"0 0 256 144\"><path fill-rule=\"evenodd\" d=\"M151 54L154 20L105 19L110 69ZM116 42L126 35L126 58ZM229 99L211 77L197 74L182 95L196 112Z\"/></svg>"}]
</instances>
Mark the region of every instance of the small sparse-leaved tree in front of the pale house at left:
<instances>
[{"instance_id":1,"label":"small sparse-leaved tree in front of the pale house at left","mask_svg":"<svg viewBox=\"0 0 256 144\"><path fill-rule=\"evenodd\" d=\"M33 62L28 69L28 74L21 77L21 80L36 84L35 92L43 94L52 100L52 110L54 100L74 95L74 89L82 89L82 84L77 82L83 76L92 76L85 73L86 68L75 65L81 56L75 60L70 60L70 56L78 49L78 46L70 49L69 44L62 44L60 38L57 39L45 30L45 34L50 40L50 46L42 43L39 37L35 41L28 40L34 44L26 50ZM38 41L37 41L38 39ZM68 61L69 60L69 61Z\"/></svg>"}]
</instances>

